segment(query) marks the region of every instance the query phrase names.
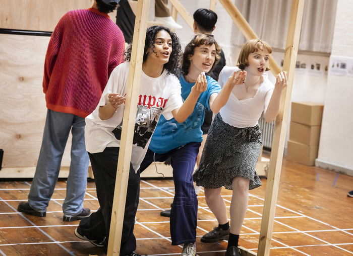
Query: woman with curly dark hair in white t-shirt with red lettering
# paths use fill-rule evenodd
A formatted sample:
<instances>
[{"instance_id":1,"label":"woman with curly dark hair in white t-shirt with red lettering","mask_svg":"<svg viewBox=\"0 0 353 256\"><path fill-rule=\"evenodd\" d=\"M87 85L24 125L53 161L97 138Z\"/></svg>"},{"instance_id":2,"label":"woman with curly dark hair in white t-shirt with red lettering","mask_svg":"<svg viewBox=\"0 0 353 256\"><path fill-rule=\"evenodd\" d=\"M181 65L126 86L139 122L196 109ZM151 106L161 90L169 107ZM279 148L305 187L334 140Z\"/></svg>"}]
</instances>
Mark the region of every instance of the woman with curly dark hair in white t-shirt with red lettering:
<instances>
[{"instance_id":1,"label":"woman with curly dark hair in white t-shirt with red lettering","mask_svg":"<svg viewBox=\"0 0 353 256\"><path fill-rule=\"evenodd\" d=\"M205 84L196 83L190 97L183 103L180 82L174 75L178 73L180 49L178 37L169 29L161 26L147 29L121 255L138 255L134 252L136 239L133 230L140 193L139 167L159 118L163 116L165 119L174 118L177 122L184 122L192 113L200 94L206 90ZM131 47L126 54L126 59L130 60L130 56ZM129 67L130 62L125 62L111 72L96 110L85 119L86 149L92 164L100 209L83 219L75 234L97 246L104 247L105 253L108 245Z\"/></svg>"}]
</instances>

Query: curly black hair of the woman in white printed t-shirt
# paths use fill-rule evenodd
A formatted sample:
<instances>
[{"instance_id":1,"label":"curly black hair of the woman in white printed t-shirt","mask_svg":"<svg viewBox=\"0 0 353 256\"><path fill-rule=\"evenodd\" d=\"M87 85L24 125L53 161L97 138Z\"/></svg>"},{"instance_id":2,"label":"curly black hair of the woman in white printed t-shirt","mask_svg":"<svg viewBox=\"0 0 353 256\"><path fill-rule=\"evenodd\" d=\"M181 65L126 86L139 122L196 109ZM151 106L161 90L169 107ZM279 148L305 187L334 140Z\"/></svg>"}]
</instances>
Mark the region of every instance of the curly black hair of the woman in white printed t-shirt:
<instances>
[{"instance_id":1,"label":"curly black hair of the woman in white printed t-shirt","mask_svg":"<svg viewBox=\"0 0 353 256\"><path fill-rule=\"evenodd\" d=\"M182 46L180 44L179 38L175 33L171 32L168 28L163 26L152 26L149 27L146 31L146 41L145 41L145 48L143 54L143 62L146 61L148 55L148 49L154 49L154 41L156 40L157 34L159 31L164 30L166 31L171 38L171 53L169 57L169 61L163 65L163 68L168 71L168 74L174 74L177 77L180 75L180 62L182 58ZM127 50L125 51L125 61L130 61L131 59L131 48L132 43L128 46Z\"/></svg>"}]
</instances>

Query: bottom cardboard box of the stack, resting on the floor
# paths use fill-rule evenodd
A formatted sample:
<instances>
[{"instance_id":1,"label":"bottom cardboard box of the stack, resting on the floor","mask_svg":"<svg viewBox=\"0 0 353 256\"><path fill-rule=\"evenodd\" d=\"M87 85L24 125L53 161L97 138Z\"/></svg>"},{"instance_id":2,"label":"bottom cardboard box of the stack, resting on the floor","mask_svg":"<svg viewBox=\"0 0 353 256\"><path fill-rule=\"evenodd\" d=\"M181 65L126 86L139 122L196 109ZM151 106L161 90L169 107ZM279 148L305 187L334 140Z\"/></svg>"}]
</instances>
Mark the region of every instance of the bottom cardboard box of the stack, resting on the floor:
<instances>
[{"instance_id":1,"label":"bottom cardboard box of the stack, resting on the floor","mask_svg":"<svg viewBox=\"0 0 353 256\"><path fill-rule=\"evenodd\" d=\"M318 156L319 146L309 146L296 141L288 140L287 159L305 165L313 166Z\"/></svg>"}]
</instances>

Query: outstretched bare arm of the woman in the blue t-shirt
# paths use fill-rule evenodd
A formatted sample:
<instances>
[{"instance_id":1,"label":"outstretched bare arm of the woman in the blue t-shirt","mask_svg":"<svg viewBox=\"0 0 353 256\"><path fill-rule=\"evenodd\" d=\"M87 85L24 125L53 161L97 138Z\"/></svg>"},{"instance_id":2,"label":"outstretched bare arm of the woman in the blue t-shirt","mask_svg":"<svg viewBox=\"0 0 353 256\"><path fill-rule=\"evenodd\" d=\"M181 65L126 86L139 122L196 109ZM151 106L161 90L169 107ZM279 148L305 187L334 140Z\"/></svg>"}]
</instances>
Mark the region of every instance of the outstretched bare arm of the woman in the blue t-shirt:
<instances>
[{"instance_id":1,"label":"outstretched bare arm of the woman in the blue t-shirt","mask_svg":"<svg viewBox=\"0 0 353 256\"><path fill-rule=\"evenodd\" d=\"M237 74L237 71L234 71L232 76L229 76L228 80L225 82L222 90L219 94L212 94L209 100L210 108L213 113L217 113L220 109L227 103L231 90L234 86L242 84L243 81L247 78L246 71L240 71Z\"/></svg>"}]
</instances>

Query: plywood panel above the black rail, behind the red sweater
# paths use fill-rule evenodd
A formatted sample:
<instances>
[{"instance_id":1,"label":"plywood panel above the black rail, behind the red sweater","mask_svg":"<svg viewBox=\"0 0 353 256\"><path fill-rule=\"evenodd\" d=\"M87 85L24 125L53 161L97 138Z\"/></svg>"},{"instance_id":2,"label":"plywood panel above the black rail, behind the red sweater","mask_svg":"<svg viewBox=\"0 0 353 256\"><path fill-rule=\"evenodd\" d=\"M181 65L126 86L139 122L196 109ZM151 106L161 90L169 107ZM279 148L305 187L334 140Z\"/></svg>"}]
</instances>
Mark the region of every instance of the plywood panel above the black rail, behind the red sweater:
<instances>
[{"instance_id":1,"label":"plywood panel above the black rail, behind the red sweater","mask_svg":"<svg viewBox=\"0 0 353 256\"><path fill-rule=\"evenodd\" d=\"M0 0L0 28L53 31L69 11L88 9L94 0ZM109 14L115 22L116 10Z\"/></svg>"}]
</instances>

